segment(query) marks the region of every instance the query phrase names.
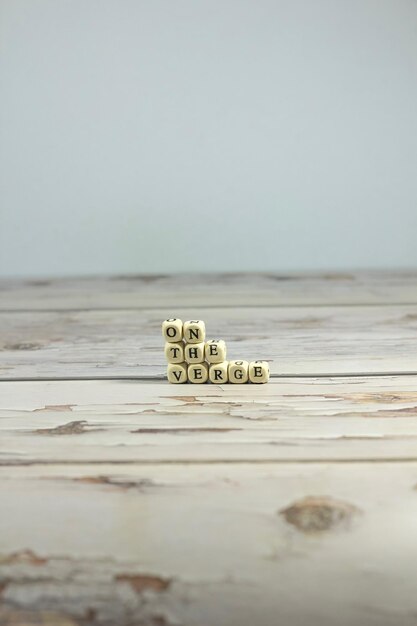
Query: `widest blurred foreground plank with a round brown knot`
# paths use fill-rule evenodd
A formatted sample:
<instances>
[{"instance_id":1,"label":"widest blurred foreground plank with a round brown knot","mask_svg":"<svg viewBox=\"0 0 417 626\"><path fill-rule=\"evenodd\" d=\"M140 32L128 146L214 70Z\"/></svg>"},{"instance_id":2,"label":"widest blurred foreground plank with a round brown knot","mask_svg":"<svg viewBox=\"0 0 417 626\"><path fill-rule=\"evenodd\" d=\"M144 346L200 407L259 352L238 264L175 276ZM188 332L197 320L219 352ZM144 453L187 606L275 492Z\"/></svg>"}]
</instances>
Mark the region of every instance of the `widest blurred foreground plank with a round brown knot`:
<instances>
[{"instance_id":1,"label":"widest blurred foreground plank with a round brown knot","mask_svg":"<svg viewBox=\"0 0 417 626\"><path fill-rule=\"evenodd\" d=\"M416 481L417 463L0 469L0 623L414 626Z\"/></svg>"}]
</instances>

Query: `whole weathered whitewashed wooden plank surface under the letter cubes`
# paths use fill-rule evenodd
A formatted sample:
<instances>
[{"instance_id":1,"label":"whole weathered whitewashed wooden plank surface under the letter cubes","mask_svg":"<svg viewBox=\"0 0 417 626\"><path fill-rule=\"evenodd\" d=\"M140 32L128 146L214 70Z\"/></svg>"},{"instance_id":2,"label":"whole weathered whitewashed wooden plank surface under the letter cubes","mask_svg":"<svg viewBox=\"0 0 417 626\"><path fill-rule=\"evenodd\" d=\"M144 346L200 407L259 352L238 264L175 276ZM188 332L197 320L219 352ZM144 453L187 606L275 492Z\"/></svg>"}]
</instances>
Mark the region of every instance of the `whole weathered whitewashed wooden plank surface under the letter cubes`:
<instances>
[{"instance_id":1,"label":"whole weathered whitewashed wooden plank surface under the letter cubes","mask_svg":"<svg viewBox=\"0 0 417 626\"><path fill-rule=\"evenodd\" d=\"M3 280L0 351L0 625L417 624L417 272Z\"/></svg>"}]
</instances>

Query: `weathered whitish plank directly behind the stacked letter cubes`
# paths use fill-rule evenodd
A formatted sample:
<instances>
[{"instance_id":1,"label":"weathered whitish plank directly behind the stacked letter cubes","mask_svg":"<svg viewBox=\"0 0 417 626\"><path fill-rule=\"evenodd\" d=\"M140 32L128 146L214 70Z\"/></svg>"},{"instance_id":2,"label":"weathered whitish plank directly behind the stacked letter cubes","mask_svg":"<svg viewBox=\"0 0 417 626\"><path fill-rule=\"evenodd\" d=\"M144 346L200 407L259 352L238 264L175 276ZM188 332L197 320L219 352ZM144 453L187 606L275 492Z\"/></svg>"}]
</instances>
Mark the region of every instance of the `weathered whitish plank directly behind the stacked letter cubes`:
<instances>
[{"instance_id":1,"label":"weathered whitish plank directly behind the stacked letter cubes","mask_svg":"<svg viewBox=\"0 0 417 626\"><path fill-rule=\"evenodd\" d=\"M417 372L417 306L196 309L273 375ZM163 377L161 320L190 311L0 313L0 378ZM193 317L193 315L191 315Z\"/></svg>"}]
</instances>

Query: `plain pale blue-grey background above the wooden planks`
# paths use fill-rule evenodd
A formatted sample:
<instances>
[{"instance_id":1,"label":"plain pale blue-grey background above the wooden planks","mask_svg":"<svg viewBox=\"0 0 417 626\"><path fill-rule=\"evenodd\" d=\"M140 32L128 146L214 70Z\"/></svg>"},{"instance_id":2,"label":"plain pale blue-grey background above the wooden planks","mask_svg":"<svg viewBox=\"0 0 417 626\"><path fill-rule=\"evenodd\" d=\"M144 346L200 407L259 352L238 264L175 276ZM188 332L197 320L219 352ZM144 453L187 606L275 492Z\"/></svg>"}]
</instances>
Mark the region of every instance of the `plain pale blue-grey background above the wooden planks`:
<instances>
[{"instance_id":1,"label":"plain pale blue-grey background above the wooden planks","mask_svg":"<svg viewBox=\"0 0 417 626\"><path fill-rule=\"evenodd\" d=\"M415 0L0 0L0 273L417 266Z\"/></svg>"}]
</instances>

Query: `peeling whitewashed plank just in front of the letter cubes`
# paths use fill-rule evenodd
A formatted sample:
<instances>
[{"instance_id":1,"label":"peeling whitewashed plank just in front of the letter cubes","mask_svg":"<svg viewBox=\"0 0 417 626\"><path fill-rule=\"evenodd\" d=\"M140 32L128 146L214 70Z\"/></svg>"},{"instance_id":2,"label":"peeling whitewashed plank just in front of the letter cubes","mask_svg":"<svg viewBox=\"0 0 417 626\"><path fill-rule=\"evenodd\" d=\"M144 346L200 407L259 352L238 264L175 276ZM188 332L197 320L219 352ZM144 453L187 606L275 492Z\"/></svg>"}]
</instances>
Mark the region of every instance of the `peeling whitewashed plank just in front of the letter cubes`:
<instances>
[{"instance_id":1,"label":"peeling whitewashed plank just in front of the letter cubes","mask_svg":"<svg viewBox=\"0 0 417 626\"><path fill-rule=\"evenodd\" d=\"M2 383L0 463L417 459L417 377Z\"/></svg>"}]
</instances>

